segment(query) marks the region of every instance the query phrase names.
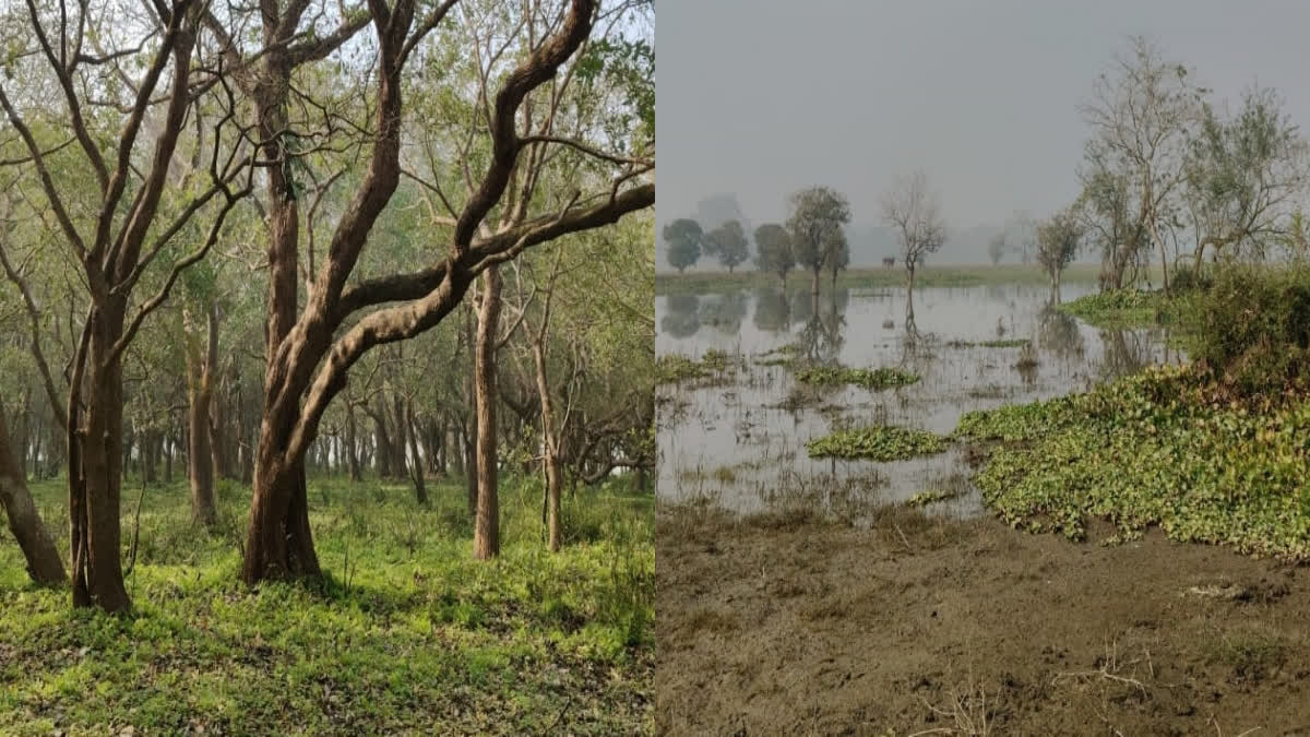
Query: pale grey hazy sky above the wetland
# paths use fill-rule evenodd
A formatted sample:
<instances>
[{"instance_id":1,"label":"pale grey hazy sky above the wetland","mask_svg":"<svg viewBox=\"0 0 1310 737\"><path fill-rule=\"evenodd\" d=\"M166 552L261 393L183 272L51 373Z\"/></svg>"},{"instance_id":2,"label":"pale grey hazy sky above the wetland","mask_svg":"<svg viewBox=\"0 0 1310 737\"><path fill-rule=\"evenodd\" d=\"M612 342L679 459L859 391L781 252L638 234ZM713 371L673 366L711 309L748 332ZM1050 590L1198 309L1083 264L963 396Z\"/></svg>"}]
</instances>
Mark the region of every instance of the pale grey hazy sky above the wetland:
<instances>
[{"instance_id":1,"label":"pale grey hazy sky above the wetland","mask_svg":"<svg viewBox=\"0 0 1310 737\"><path fill-rule=\"evenodd\" d=\"M1212 98L1258 81L1310 129L1310 3L1294 0L665 0L656 24L660 220L732 191L758 224L827 184L876 224L913 168L952 227L1047 214L1077 194L1077 106L1136 33Z\"/></svg>"}]
</instances>

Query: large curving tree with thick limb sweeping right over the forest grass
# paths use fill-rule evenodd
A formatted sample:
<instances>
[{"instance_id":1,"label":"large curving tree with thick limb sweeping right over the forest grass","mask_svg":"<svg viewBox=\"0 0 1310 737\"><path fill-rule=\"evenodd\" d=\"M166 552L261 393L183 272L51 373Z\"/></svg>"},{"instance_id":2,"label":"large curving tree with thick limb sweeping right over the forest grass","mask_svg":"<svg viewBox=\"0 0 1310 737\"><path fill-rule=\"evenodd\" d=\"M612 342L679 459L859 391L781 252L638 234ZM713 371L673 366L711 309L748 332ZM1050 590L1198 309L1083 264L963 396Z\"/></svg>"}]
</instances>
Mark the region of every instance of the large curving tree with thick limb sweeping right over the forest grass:
<instances>
[{"instance_id":1,"label":"large curving tree with thick limb sweeping right over the forest grass","mask_svg":"<svg viewBox=\"0 0 1310 737\"><path fill-rule=\"evenodd\" d=\"M473 66L470 79L451 81L455 89L474 89L474 104L457 113L477 110L477 114L456 115L462 126L473 127L461 129L453 121L438 126L406 117L402 102L406 63L415 58L423 38L441 25L451 5L444 3L419 17L413 0L398 0L394 7L369 0L377 73L362 75L375 80L369 105L373 130L364 143L367 164L331 229L325 258L310 269L313 277L303 302L295 232L272 235L269 365L241 570L246 582L321 574L308 522L305 456L328 407L360 358L377 346L413 338L439 325L489 268L570 232L616 223L654 203L655 185L646 181L654 169L650 153L654 110L639 105L645 96L634 98L637 111L622 111L639 122L635 130L631 125L621 127L630 140L588 143L557 132L557 126L567 122L553 114L567 106L561 96L584 94L587 85L597 79L596 58L578 56L596 20L593 0L570 0L548 28L538 22L548 13L537 4L521 8L521 18L506 18L515 33L496 34L491 42L495 47L486 55L479 29L445 35L451 43L469 39L476 46L474 52L453 54L457 62ZM470 17L468 22L474 21ZM458 47L445 50L451 49ZM590 64L579 71L580 60ZM447 62L443 58L441 63ZM599 68L604 70L604 59L600 62ZM557 77L561 70L565 75ZM652 71L643 72L642 81L651 75ZM529 98L540 104L525 106ZM434 111L438 113L441 110ZM427 139L427 144L415 148L415 155L426 155L426 161L415 161L422 167L405 167L406 176L432 194L431 261L413 271L388 270L351 281L369 243L369 231L400 184L401 134L406 122L413 122L415 136L453 134L456 139ZM604 131L607 126L588 130L597 129ZM470 152L464 143L468 140L477 140L485 148ZM638 153L608 151L620 143ZM485 170L466 178L474 167ZM537 186L552 176L549 172L572 172L571 181L566 180L571 188L540 190ZM592 191L584 193L583 186ZM462 202L452 197L461 189L466 193ZM271 188L267 195L293 198L295 189L283 184Z\"/></svg>"}]
</instances>

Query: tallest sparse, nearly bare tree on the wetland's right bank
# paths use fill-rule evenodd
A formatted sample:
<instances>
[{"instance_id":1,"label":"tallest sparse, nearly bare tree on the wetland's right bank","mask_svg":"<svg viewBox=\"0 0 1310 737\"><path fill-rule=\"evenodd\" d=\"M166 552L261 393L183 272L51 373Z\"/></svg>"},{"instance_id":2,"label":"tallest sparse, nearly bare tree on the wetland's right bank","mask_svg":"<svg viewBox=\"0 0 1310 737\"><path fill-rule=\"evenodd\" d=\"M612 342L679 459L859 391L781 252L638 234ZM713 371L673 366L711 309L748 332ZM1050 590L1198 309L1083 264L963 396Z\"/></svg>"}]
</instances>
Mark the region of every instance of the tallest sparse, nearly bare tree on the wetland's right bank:
<instances>
[{"instance_id":1,"label":"tallest sparse, nearly bare tree on the wetland's right bank","mask_svg":"<svg viewBox=\"0 0 1310 737\"><path fill-rule=\"evenodd\" d=\"M1093 98L1082 105L1093 129L1086 159L1093 170L1114 172L1131 191L1133 229L1159 248L1163 287L1169 294L1169 257L1163 223L1172 219L1171 198L1183 182L1188 126L1200 94L1184 66L1166 62L1144 37L1129 39L1111 73L1102 73Z\"/></svg>"}]
</instances>

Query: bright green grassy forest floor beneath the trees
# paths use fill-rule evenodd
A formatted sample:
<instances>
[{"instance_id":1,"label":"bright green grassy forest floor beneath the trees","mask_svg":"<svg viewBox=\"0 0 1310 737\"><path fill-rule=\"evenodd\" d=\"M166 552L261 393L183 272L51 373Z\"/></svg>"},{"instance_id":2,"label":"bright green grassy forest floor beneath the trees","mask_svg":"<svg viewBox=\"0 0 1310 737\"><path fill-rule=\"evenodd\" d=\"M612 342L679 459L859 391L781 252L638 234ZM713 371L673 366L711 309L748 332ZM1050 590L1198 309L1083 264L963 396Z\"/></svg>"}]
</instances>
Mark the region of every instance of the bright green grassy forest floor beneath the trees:
<instances>
[{"instance_id":1,"label":"bright green grassy forest floor beneath the trees","mask_svg":"<svg viewBox=\"0 0 1310 737\"><path fill-rule=\"evenodd\" d=\"M47 521L67 519L60 484L33 493ZM124 493L124 560L138 493ZM462 487L421 509L405 485L310 480L326 585L250 590L236 581L248 493L223 485L223 530L207 534L181 485L148 489L136 611L122 618L33 588L0 535L0 732L648 730L652 494L579 490L550 555L540 483L511 479L503 555L477 563Z\"/></svg>"}]
</instances>

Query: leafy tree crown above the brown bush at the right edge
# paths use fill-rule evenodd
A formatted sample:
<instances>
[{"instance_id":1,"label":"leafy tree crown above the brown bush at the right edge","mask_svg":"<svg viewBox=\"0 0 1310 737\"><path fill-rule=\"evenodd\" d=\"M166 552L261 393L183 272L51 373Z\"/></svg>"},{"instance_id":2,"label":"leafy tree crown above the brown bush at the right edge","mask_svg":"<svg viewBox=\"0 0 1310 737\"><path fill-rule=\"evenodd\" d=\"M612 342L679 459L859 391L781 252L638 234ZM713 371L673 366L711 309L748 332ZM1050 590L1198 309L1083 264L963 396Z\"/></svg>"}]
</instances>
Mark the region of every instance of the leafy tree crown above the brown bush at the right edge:
<instances>
[{"instance_id":1,"label":"leafy tree crown above the brown bush at the right edge","mask_svg":"<svg viewBox=\"0 0 1310 737\"><path fill-rule=\"evenodd\" d=\"M1184 198L1196 241L1196 268L1205 248L1251 247L1286 235L1289 206L1305 193L1307 146L1267 88L1243 94L1242 109L1224 119L1201 105L1200 123L1184 159Z\"/></svg>"}]
</instances>

